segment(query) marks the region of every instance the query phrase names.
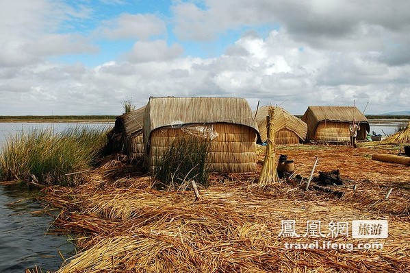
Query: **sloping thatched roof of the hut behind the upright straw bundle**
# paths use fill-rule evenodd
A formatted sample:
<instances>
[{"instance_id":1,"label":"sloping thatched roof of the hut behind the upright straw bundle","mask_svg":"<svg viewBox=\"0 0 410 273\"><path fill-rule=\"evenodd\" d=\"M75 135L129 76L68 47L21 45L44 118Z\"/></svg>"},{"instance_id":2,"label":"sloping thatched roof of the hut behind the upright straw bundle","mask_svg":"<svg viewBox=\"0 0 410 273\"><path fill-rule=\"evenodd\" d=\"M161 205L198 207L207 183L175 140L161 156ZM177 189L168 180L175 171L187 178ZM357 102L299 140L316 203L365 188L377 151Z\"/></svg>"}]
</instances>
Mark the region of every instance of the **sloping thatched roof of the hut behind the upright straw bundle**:
<instances>
[{"instance_id":1,"label":"sloping thatched roof of the hut behind the upright straw bundle","mask_svg":"<svg viewBox=\"0 0 410 273\"><path fill-rule=\"evenodd\" d=\"M269 106L261 107L256 112L256 122L259 127L259 133L261 134L262 141L266 141L268 138L266 131L266 116L269 115ZM255 116L255 114L254 114ZM274 107L274 131L278 132L282 129L291 130L298 137L305 141L307 134L307 125L301 119L298 119L294 115L287 112L281 107Z\"/></svg>"}]
</instances>

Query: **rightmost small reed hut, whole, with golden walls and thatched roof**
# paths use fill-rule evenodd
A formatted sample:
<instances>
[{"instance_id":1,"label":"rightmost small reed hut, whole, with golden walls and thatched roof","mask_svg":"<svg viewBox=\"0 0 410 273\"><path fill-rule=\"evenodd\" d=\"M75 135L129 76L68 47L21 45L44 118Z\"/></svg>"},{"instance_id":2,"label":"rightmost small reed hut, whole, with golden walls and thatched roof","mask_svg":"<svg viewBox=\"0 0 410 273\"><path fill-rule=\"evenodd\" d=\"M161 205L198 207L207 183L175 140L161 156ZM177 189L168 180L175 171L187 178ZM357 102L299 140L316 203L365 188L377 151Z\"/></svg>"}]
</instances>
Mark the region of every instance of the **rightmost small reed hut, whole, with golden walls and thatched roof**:
<instances>
[{"instance_id":1,"label":"rightmost small reed hut, whole, with golden walls and thatched roof","mask_svg":"<svg viewBox=\"0 0 410 273\"><path fill-rule=\"evenodd\" d=\"M307 123L306 141L348 143L353 119L361 128L357 141L365 140L370 132L368 119L354 106L309 106L301 119Z\"/></svg>"}]
</instances>

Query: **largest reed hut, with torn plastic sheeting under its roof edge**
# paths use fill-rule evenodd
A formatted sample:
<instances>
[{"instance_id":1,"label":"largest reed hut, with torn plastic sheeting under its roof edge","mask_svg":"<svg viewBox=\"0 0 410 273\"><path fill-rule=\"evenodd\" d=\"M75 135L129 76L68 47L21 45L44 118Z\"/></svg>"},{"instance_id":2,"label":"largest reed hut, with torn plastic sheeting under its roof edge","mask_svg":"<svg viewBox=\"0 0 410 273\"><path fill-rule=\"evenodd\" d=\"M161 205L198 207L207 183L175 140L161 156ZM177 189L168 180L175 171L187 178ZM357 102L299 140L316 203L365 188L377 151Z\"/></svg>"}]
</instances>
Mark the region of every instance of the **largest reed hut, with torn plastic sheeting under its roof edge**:
<instances>
[{"instance_id":1,"label":"largest reed hut, with torn plastic sheeting under its roof edge","mask_svg":"<svg viewBox=\"0 0 410 273\"><path fill-rule=\"evenodd\" d=\"M210 171L257 170L257 123L246 99L151 97L144 113L146 164L150 171L172 141L194 134L209 139Z\"/></svg>"}]
</instances>

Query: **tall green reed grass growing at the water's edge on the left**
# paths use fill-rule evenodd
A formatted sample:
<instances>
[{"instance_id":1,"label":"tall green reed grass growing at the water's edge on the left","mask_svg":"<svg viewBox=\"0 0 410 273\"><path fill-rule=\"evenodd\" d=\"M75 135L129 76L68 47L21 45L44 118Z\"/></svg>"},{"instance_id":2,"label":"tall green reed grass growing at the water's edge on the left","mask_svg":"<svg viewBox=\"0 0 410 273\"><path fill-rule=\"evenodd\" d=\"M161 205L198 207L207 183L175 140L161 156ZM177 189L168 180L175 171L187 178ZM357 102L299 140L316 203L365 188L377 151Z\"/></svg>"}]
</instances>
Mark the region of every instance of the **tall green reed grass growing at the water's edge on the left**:
<instances>
[{"instance_id":1,"label":"tall green reed grass growing at the water's edge on the left","mask_svg":"<svg viewBox=\"0 0 410 273\"><path fill-rule=\"evenodd\" d=\"M77 185L103 152L106 134L103 128L87 126L58 133L35 129L15 134L0 150L0 178Z\"/></svg>"}]
</instances>

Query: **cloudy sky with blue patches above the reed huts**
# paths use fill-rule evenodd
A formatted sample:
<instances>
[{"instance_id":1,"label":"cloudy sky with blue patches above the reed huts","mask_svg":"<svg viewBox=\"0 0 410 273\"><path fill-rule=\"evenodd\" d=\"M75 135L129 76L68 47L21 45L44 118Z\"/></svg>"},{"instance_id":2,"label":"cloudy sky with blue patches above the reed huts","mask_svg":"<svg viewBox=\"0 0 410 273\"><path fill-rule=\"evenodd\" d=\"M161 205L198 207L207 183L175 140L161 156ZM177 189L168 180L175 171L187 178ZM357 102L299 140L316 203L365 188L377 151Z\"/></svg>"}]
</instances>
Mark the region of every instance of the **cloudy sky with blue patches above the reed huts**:
<instances>
[{"instance_id":1,"label":"cloudy sky with blue patches above the reed huts","mask_svg":"<svg viewBox=\"0 0 410 273\"><path fill-rule=\"evenodd\" d=\"M410 110L407 0L0 0L0 115L149 97Z\"/></svg>"}]
</instances>

